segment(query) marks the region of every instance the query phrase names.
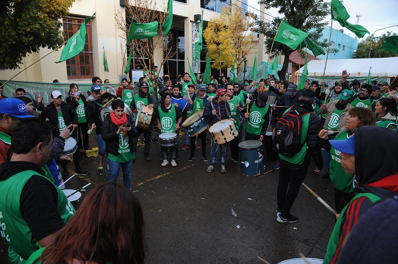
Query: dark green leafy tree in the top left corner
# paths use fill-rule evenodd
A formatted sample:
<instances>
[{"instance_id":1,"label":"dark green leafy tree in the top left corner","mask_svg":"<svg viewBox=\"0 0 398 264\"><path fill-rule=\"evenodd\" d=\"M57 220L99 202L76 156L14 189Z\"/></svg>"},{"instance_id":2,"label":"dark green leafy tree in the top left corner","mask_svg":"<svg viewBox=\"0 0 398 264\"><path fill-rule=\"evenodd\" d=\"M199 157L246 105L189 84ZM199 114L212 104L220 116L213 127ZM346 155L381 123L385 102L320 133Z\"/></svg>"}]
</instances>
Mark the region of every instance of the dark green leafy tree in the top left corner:
<instances>
[{"instance_id":1,"label":"dark green leafy tree in the top left corner","mask_svg":"<svg viewBox=\"0 0 398 264\"><path fill-rule=\"evenodd\" d=\"M64 42L62 17L74 0L2 0L0 4L0 66L19 68L28 53L54 49Z\"/></svg>"}]
</instances>

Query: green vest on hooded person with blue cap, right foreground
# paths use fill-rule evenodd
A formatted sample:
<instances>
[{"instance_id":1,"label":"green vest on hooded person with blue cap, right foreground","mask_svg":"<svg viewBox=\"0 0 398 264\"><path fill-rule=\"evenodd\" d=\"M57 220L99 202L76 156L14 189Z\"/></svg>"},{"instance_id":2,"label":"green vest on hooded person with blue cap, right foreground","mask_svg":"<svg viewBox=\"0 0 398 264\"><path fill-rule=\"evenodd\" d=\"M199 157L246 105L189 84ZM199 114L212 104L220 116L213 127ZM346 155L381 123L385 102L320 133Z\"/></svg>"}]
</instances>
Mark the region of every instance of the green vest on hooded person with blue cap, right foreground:
<instances>
[{"instance_id":1,"label":"green vest on hooded person with blue cap, right foreground","mask_svg":"<svg viewBox=\"0 0 398 264\"><path fill-rule=\"evenodd\" d=\"M328 264L331 260L332 257L334 255L334 253L336 253L336 249L339 245L339 239L340 239L340 226L341 226L341 219L343 219L343 214L345 214L345 211L347 210L347 207L349 206L349 204L360 197L367 197L369 198L369 200L371 200L371 202L374 204L375 202L378 202L381 200L380 197L378 197L377 195L373 194L373 193L358 193L357 195L354 196L354 198L351 199L351 201L343 208L343 210L341 210L341 214L339 216L339 218L337 219L336 224L334 225L333 231L332 231L332 235L330 235L330 239L329 239L329 243L328 243L328 248L326 249L326 255L324 258L324 261L322 262L322 264Z\"/></svg>"}]
</instances>

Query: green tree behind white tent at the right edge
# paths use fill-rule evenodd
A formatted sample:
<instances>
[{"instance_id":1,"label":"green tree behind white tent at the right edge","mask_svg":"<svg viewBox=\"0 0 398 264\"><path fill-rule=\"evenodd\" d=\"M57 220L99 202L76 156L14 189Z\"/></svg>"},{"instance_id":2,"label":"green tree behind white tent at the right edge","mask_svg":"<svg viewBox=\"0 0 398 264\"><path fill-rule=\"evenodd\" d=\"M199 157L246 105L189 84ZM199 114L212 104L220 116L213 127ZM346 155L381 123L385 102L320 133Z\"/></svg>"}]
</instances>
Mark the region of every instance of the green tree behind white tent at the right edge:
<instances>
[{"instance_id":1,"label":"green tree behind white tent at the right edge","mask_svg":"<svg viewBox=\"0 0 398 264\"><path fill-rule=\"evenodd\" d=\"M387 31L383 35L379 37L372 37L372 35L368 36L366 39L362 39L358 42L357 52L354 55L354 58L369 58L369 50L371 48L371 42L373 38L372 44L372 52L371 58L387 58L387 57L395 57L396 54L391 53L386 50L380 50L381 45L383 44L386 37L394 36L396 33L392 31Z\"/></svg>"}]
</instances>

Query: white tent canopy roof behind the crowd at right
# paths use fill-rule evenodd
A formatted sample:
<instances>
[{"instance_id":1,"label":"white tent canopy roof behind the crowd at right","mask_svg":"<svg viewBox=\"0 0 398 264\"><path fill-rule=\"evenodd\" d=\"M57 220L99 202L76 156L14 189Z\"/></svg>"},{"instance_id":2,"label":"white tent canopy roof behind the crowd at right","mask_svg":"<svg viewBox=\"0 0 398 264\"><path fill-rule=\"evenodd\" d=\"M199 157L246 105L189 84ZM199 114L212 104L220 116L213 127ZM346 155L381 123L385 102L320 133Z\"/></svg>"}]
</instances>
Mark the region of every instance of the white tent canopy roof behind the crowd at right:
<instances>
[{"instance_id":1,"label":"white tent canopy roof behind the crowd at right","mask_svg":"<svg viewBox=\"0 0 398 264\"><path fill-rule=\"evenodd\" d=\"M322 76L326 60L312 60L308 62L308 77ZM367 77L371 69L371 77L395 77L398 75L398 57L370 58L370 59L340 59L328 60L326 76L341 76L343 70L350 73L349 77ZM302 68L300 69L300 76ZM299 75L298 71L295 75Z\"/></svg>"}]
</instances>

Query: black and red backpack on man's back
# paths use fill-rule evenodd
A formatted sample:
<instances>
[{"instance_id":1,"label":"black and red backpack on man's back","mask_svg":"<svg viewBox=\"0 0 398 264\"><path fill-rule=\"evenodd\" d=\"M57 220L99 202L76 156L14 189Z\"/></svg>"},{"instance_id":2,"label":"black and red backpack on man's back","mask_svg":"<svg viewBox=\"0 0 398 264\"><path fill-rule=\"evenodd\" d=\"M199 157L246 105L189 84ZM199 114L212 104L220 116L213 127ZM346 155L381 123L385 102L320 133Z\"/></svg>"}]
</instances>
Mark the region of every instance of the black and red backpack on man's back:
<instances>
[{"instance_id":1,"label":"black and red backpack on man's back","mask_svg":"<svg viewBox=\"0 0 398 264\"><path fill-rule=\"evenodd\" d=\"M272 148L283 156L291 157L300 152L304 143L301 143L302 118L297 110L289 112L278 119L272 132Z\"/></svg>"}]
</instances>

